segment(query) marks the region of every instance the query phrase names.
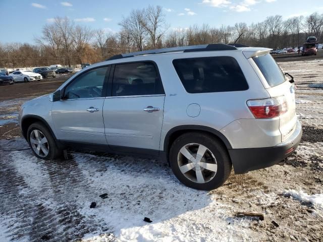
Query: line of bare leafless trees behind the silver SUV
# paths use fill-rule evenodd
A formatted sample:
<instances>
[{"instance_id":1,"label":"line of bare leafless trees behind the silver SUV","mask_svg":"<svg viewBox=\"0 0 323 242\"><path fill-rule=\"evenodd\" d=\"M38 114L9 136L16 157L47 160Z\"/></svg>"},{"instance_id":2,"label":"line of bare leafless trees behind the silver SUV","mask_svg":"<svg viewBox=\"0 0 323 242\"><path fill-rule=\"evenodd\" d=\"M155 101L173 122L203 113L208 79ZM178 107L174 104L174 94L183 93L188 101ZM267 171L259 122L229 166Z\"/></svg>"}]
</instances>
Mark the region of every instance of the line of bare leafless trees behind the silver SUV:
<instances>
[{"instance_id":1,"label":"line of bare leafless trees behind the silver SUV","mask_svg":"<svg viewBox=\"0 0 323 242\"><path fill-rule=\"evenodd\" d=\"M163 9L148 6L135 9L122 17L120 31L91 29L76 25L65 17L46 24L35 44L0 43L0 67L36 67L61 64L74 66L96 63L115 54L208 43L238 43L269 48L299 47L306 37L316 36L323 42L323 14L307 17L280 15L267 17L259 23L236 23L219 28L208 24L170 29Z\"/></svg>"}]
</instances>

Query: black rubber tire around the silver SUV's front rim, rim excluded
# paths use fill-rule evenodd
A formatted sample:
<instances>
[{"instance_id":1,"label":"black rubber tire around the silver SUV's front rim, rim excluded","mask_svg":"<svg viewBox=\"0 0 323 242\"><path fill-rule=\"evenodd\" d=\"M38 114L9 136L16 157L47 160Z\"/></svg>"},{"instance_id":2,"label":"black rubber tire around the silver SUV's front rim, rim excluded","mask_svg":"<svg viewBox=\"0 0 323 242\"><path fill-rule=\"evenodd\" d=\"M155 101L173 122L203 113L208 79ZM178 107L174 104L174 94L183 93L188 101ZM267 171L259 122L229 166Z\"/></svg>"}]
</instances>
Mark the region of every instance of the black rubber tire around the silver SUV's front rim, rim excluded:
<instances>
[{"instance_id":1,"label":"black rubber tire around the silver SUV's front rim, rim excluded","mask_svg":"<svg viewBox=\"0 0 323 242\"><path fill-rule=\"evenodd\" d=\"M46 139L48 141L48 146L49 146L48 154L45 157L37 155L31 146L30 135L33 130L39 130L41 133L43 133L43 135L46 137ZM38 158L51 160L51 159L59 158L63 155L63 150L61 150L57 147L55 139L52 137L50 131L41 122L36 122L36 123L33 123L29 126L28 131L27 131L27 138L28 138L28 144L29 144L32 152Z\"/></svg>"}]
</instances>

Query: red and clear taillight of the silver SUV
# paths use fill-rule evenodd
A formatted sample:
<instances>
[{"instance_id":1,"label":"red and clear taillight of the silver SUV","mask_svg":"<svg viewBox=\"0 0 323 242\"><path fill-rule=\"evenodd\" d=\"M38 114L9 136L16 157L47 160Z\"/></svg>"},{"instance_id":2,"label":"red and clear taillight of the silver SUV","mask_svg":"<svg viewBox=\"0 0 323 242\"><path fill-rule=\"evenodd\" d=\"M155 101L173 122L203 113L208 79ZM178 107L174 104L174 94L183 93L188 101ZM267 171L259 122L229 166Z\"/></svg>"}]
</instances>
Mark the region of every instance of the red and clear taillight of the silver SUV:
<instances>
[{"instance_id":1,"label":"red and clear taillight of the silver SUV","mask_svg":"<svg viewBox=\"0 0 323 242\"><path fill-rule=\"evenodd\" d=\"M285 96L248 100L247 105L255 118L273 118L287 112Z\"/></svg>"}]
</instances>

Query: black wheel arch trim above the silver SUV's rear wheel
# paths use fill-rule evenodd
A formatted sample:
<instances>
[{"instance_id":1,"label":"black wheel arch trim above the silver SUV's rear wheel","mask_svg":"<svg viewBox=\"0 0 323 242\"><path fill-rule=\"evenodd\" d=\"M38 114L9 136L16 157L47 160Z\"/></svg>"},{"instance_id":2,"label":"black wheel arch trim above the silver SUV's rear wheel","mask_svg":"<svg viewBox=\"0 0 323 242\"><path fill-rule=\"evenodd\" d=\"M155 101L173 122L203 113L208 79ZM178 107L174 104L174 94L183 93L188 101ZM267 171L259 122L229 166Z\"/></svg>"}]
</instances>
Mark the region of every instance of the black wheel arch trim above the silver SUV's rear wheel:
<instances>
[{"instance_id":1,"label":"black wheel arch trim above the silver SUV's rear wheel","mask_svg":"<svg viewBox=\"0 0 323 242\"><path fill-rule=\"evenodd\" d=\"M204 131L204 132L211 133L211 134L217 136L225 144L225 146L227 147L228 150L232 149L232 146L231 146L230 142L228 141L228 139L218 130L214 130L210 127L200 126L200 125L182 125L182 126L174 127L168 131L168 133L165 136L165 140L164 140L164 147L163 147L164 152L168 152L170 137L172 136L172 134L174 134L177 131L181 131L181 130Z\"/></svg>"}]
</instances>

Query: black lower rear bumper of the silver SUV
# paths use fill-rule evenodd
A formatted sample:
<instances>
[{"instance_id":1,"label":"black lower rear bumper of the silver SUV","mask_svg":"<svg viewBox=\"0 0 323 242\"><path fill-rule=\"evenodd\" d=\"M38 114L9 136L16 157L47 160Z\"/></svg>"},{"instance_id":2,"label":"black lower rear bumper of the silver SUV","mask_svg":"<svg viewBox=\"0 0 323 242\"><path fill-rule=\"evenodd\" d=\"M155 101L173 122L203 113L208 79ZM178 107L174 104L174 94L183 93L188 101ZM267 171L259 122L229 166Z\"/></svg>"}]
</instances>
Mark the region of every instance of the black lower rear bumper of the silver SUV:
<instances>
[{"instance_id":1,"label":"black lower rear bumper of the silver SUV","mask_svg":"<svg viewBox=\"0 0 323 242\"><path fill-rule=\"evenodd\" d=\"M230 149L229 154L236 174L276 165L294 153L302 138L302 126L297 120L294 133L274 147Z\"/></svg>"}]
</instances>

